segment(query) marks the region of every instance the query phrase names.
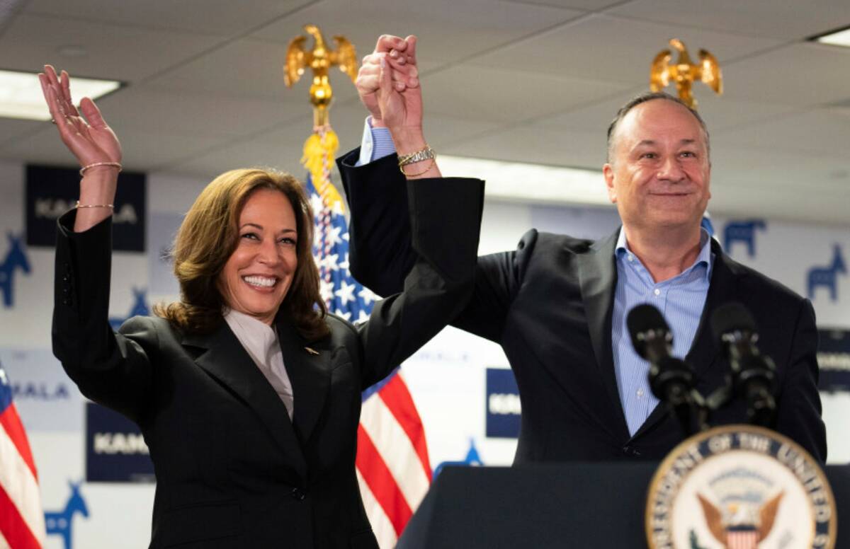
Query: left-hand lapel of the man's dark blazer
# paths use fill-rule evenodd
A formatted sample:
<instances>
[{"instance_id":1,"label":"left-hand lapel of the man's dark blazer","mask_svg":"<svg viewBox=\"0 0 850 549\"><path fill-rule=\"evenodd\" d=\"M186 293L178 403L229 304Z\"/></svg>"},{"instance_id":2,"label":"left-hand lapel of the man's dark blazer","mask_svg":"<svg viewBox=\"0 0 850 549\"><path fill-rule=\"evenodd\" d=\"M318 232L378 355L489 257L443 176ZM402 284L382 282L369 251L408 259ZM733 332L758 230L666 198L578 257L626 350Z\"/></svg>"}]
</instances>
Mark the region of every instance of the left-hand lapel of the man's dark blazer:
<instances>
[{"instance_id":1,"label":"left-hand lapel of the man's dark blazer","mask_svg":"<svg viewBox=\"0 0 850 549\"><path fill-rule=\"evenodd\" d=\"M617 266L614 249L619 230L605 240L592 245L587 254L578 255L579 279L581 283L581 298L584 300L587 328L599 375L608 392L612 410L619 421L616 426L617 434L622 438L628 437L628 425L620 401L620 391L617 389L617 378L614 372L614 350L611 348L611 314L614 309L614 294L617 284Z\"/></svg>"}]
</instances>

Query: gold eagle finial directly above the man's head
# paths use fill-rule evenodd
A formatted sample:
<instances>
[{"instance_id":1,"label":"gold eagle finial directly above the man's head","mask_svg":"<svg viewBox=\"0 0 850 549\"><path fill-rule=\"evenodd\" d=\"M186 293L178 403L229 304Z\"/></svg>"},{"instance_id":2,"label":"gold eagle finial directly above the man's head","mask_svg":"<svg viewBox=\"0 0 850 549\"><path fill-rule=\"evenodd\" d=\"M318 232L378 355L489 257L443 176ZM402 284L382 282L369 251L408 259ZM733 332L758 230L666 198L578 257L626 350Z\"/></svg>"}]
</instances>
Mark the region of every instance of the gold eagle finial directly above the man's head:
<instances>
[{"instance_id":1,"label":"gold eagle finial directly above the man's head","mask_svg":"<svg viewBox=\"0 0 850 549\"><path fill-rule=\"evenodd\" d=\"M694 93L691 90L694 81L704 82L717 95L723 93L723 76L720 74L720 64L717 63L717 58L706 50L700 49L700 63L694 63L690 59L684 42L678 38L672 38L670 45L679 53L679 59L676 63L671 64L672 53L669 49L661 50L655 56L649 70L649 89L651 91L660 92L670 81L673 81L676 83L679 98L691 109L696 108L696 99L694 99Z\"/></svg>"}]
</instances>

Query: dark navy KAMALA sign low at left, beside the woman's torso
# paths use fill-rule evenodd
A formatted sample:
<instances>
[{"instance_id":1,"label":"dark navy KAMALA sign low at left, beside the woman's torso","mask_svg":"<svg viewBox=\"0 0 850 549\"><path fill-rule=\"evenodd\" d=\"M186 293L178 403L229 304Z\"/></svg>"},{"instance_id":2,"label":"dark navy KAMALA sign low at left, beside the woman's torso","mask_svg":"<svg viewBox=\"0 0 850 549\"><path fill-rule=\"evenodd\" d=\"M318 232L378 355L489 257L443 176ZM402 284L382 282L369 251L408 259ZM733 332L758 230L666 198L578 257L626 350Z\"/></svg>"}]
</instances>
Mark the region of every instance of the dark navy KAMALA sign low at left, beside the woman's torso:
<instances>
[{"instance_id":1,"label":"dark navy KAMALA sign low at left, beside the woman's torso","mask_svg":"<svg viewBox=\"0 0 850 549\"><path fill-rule=\"evenodd\" d=\"M156 482L139 426L94 402L86 403L86 480Z\"/></svg>"}]
</instances>

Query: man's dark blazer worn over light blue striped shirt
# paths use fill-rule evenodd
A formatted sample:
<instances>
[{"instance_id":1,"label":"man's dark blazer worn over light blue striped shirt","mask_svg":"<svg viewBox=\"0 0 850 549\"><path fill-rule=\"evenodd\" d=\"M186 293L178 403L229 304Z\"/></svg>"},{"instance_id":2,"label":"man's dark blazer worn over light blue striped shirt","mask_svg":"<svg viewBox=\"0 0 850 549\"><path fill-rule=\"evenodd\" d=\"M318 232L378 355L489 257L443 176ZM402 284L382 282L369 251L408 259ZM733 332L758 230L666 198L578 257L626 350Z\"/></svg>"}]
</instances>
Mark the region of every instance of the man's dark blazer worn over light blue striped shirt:
<instances>
[{"instance_id":1,"label":"man's dark blazer worn over light blue striped shirt","mask_svg":"<svg viewBox=\"0 0 850 549\"><path fill-rule=\"evenodd\" d=\"M351 270L378 294L390 294L413 257L405 244L406 189L395 176L395 155L355 168L357 154L337 161L352 212ZM507 355L523 411L515 463L660 459L683 438L664 406L634 436L628 432L611 344L618 234L592 242L531 230L515 251L479 257L473 299L453 324L495 341ZM811 303L711 246L711 285L686 357L697 388L707 394L728 373L708 319L719 305L740 301L755 317L762 352L777 365L776 429L824 461ZM736 400L712 420L745 423L745 406Z\"/></svg>"}]
</instances>

